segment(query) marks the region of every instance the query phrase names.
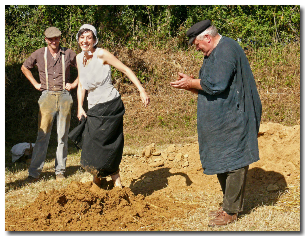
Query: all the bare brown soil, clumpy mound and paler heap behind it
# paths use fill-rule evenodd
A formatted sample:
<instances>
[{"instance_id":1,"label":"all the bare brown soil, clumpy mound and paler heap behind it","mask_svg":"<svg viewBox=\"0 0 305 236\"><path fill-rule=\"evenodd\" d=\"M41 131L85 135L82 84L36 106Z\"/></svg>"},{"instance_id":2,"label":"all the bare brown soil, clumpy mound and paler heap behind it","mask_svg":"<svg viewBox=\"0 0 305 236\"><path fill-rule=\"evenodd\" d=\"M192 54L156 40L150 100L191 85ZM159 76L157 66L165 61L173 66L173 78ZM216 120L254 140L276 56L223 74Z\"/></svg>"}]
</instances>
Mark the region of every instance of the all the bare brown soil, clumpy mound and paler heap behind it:
<instances>
[{"instance_id":1,"label":"all the bare brown soil, clumpy mound and paler heap behind it","mask_svg":"<svg viewBox=\"0 0 305 236\"><path fill-rule=\"evenodd\" d=\"M260 160L249 168L244 213L261 204L274 204L272 199L296 184L300 175L300 125L261 124L258 142ZM199 205L173 201L169 195L205 191L221 203L216 175L203 174L198 143L165 150L155 150L152 144L141 156L124 156L120 168L122 190L107 178L102 188L87 181L41 192L29 206L5 210L5 230L167 230L173 225L171 218Z\"/></svg>"}]
</instances>

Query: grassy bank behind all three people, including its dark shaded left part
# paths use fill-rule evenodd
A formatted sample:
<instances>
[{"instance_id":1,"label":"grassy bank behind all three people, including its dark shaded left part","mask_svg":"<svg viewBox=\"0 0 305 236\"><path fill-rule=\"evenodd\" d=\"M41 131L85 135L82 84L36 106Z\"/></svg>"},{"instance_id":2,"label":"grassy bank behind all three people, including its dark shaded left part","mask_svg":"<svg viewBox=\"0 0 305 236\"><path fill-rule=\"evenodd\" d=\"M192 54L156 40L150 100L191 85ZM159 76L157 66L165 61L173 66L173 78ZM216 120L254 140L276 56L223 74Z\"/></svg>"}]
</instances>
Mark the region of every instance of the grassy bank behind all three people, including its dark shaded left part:
<instances>
[{"instance_id":1,"label":"grassy bank behind all three people, including its dark shaded left part","mask_svg":"<svg viewBox=\"0 0 305 236\"><path fill-rule=\"evenodd\" d=\"M151 98L150 105L144 109L135 86L122 73L113 70L114 85L126 107L126 145L143 148L152 142L163 145L196 140L197 97L191 92L172 88L169 83L178 77L178 72L198 77L203 54L196 52L194 47L179 49L175 39L162 46L148 44L145 50L120 48L117 53L119 59L142 81ZM5 66L5 141L9 148L17 142L34 143L37 135L40 92L35 91L20 71L23 54L20 54L20 61L12 58L13 61ZM263 104L261 122L287 126L298 124L300 47L274 46L249 50L246 54ZM38 77L36 70L33 74ZM72 91L72 96L71 128L74 128L78 123L76 90ZM52 132L50 140L56 141L56 132Z\"/></svg>"}]
</instances>

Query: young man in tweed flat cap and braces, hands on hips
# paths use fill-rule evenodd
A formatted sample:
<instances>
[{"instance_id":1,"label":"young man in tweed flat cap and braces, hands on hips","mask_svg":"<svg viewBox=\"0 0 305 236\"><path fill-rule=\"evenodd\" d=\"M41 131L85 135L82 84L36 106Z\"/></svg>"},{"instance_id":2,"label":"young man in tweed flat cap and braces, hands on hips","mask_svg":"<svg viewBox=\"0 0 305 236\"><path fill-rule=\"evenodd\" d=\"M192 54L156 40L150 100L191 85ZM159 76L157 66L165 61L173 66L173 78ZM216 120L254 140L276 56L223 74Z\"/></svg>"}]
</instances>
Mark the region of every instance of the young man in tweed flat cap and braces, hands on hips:
<instances>
[{"instance_id":1,"label":"young man in tweed flat cap and braces, hands on hips","mask_svg":"<svg viewBox=\"0 0 305 236\"><path fill-rule=\"evenodd\" d=\"M58 28L48 27L44 34L47 47L33 52L21 67L31 84L42 91L38 100L38 135L25 183L39 179L55 117L58 141L55 160L56 181L65 179L68 131L73 102L70 90L76 88L78 84L78 77L70 83L70 66L77 67L76 53L59 45L61 32ZM40 83L30 71L35 65L38 67Z\"/></svg>"}]
</instances>

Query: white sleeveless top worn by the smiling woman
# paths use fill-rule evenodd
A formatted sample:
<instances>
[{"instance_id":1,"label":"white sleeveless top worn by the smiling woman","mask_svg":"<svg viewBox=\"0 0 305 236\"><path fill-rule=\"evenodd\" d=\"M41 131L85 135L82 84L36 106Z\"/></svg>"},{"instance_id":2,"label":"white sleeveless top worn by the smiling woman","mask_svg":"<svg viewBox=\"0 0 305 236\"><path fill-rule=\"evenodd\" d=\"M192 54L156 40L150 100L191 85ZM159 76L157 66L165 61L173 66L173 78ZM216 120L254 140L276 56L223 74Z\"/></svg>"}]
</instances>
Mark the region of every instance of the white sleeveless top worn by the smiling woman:
<instances>
[{"instance_id":1,"label":"white sleeveless top worn by the smiling woman","mask_svg":"<svg viewBox=\"0 0 305 236\"><path fill-rule=\"evenodd\" d=\"M82 64L84 52L80 53L79 80L83 88L88 91L88 109L98 103L107 102L120 96L111 83L110 65L103 65L97 57L99 49L96 48L90 63L85 67Z\"/></svg>"}]
</instances>

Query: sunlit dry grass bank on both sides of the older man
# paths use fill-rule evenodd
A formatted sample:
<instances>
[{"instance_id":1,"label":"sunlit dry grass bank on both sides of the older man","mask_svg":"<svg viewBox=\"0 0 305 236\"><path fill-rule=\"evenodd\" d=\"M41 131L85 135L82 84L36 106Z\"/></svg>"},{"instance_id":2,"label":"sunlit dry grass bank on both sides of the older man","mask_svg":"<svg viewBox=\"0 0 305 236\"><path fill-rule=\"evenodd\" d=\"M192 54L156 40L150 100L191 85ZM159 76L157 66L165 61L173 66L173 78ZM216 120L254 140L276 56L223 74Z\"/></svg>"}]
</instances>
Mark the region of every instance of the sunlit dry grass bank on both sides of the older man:
<instances>
[{"instance_id":1,"label":"sunlit dry grass bank on both sides of the older man","mask_svg":"<svg viewBox=\"0 0 305 236\"><path fill-rule=\"evenodd\" d=\"M173 43L174 45L174 43ZM174 47L173 47L174 48ZM286 126L300 120L300 47L277 46L266 50L246 52L263 105L262 123L281 123ZM116 83L126 106L124 128L128 144L148 145L172 142L192 142L197 138L197 96L172 88L169 83L178 72L198 77L203 55L194 47L172 50L164 46L145 50L118 51L119 59L145 83L151 104L144 109L135 86ZM146 76L148 75L148 77ZM116 80L126 80L118 74ZM141 137L141 138L139 138Z\"/></svg>"}]
</instances>

